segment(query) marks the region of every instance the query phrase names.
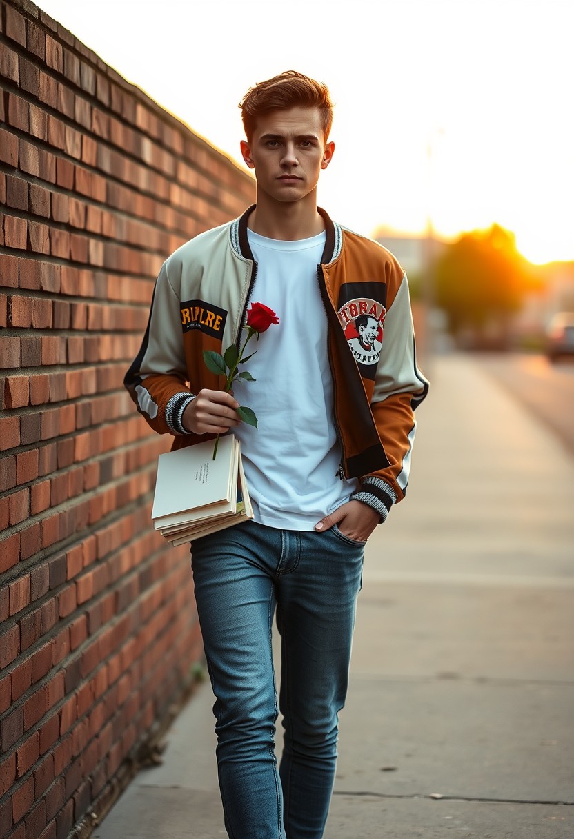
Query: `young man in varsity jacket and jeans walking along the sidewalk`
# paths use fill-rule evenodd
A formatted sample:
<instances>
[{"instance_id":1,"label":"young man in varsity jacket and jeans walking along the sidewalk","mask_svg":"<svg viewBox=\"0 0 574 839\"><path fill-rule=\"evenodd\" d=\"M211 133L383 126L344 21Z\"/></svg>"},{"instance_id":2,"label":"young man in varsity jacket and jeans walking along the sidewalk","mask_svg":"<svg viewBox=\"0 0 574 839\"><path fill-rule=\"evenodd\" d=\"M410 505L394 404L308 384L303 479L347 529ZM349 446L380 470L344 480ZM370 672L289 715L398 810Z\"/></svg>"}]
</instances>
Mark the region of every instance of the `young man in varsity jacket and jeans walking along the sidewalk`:
<instances>
[{"instance_id":1,"label":"young man in varsity jacket and jeans walking along the sidewalk","mask_svg":"<svg viewBox=\"0 0 574 839\"><path fill-rule=\"evenodd\" d=\"M232 839L319 839L364 545L404 496L413 408L427 383L403 270L317 208L317 181L335 150L326 87L289 71L253 87L241 107L257 204L164 263L126 384L176 448L227 431L241 440L254 520L192 545L225 825ZM249 361L256 382L224 393L202 351L241 340L253 300L279 325ZM191 318L200 309L212 317ZM361 341L368 350L353 352ZM240 404L253 408L258 429L240 422Z\"/></svg>"}]
</instances>

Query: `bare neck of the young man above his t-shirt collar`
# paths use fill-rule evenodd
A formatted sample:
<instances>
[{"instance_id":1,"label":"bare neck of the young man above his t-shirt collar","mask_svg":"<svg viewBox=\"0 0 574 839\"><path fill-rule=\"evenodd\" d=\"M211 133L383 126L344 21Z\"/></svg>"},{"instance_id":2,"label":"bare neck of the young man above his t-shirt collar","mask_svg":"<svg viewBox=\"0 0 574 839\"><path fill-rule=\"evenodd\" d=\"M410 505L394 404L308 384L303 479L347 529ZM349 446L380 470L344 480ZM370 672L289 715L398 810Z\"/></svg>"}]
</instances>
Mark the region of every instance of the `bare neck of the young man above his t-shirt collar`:
<instances>
[{"instance_id":1,"label":"bare neck of the young man above his t-shirt collar","mask_svg":"<svg viewBox=\"0 0 574 839\"><path fill-rule=\"evenodd\" d=\"M283 242L296 242L317 236L325 230L325 221L317 211L316 195L301 201L274 201L258 195L257 206L249 216L248 227L254 233Z\"/></svg>"}]
</instances>

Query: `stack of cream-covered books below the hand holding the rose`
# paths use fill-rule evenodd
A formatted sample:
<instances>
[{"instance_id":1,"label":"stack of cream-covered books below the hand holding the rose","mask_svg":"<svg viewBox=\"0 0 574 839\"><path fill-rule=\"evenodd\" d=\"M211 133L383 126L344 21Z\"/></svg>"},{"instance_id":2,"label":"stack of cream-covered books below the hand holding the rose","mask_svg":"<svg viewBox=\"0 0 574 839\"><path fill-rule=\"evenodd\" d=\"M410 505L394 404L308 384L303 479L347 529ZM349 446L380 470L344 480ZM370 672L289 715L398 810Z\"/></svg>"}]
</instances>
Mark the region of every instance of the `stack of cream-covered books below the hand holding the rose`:
<instances>
[{"instance_id":1,"label":"stack of cream-covered books below the hand holding the rose","mask_svg":"<svg viewBox=\"0 0 574 839\"><path fill-rule=\"evenodd\" d=\"M172 545L184 545L253 519L241 447L232 434L159 455L152 519Z\"/></svg>"}]
</instances>

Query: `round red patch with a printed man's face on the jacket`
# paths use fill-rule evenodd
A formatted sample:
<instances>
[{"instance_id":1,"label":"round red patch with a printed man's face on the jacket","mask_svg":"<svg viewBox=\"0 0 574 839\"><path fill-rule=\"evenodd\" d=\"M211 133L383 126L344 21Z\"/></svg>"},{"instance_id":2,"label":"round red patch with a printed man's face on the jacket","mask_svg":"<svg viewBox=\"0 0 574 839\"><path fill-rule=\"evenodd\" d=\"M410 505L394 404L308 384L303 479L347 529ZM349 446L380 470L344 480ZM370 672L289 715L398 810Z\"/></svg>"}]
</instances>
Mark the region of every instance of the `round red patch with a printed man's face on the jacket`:
<instances>
[{"instance_id":1,"label":"round red patch with a printed man's face on the jacket","mask_svg":"<svg viewBox=\"0 0 574 839\"><path fill-rule=\"evenodd\" d=\"M349 300L338 311L349 349L359 367L371 367L378 362L383 347L385 312L384 305L369 297Z\"/></svg>"}]
</instances>

